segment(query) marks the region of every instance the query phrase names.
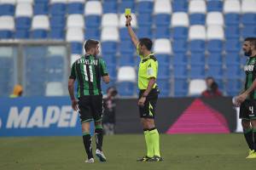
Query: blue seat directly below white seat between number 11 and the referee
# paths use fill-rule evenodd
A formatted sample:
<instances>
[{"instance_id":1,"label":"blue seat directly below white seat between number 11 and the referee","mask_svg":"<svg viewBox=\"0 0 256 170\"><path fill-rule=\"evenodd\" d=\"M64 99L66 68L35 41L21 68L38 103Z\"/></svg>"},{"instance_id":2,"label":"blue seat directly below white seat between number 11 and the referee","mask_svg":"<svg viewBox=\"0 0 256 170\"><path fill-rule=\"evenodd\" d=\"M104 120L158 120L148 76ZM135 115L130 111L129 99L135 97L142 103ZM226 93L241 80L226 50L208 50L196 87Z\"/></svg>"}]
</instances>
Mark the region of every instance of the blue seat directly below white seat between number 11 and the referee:
<instances>
[{"instance_id":1,"label":"blue seat directly below white seat between number 11 and the referee","mask_svg":"<svg viewBox=\"0 0 256 170\"><path fill-rule=\"evenodd\" d=\"M120 96L133 96L135 94L135 84L133 82L118 82L117 90Z\"/></svg>"}]
</instances>

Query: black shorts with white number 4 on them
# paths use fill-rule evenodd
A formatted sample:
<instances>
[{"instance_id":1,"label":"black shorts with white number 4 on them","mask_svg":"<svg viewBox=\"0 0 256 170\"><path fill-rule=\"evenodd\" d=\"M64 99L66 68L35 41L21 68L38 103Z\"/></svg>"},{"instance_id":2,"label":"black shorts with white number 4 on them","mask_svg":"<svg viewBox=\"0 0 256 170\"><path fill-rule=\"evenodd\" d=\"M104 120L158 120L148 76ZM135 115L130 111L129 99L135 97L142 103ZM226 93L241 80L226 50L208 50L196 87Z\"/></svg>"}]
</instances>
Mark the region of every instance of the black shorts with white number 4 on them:
<instances>
[{"instance_id":1,"label":"black shorts with white number 4 on them","mask_svg":"<svg viewBox=\"0 0 256 170\"><path fill-rule=\"evenodd\" d=\"M240 105L239 118L256 119L256 100L246 99Z\"/></svg>"}]
</instances>

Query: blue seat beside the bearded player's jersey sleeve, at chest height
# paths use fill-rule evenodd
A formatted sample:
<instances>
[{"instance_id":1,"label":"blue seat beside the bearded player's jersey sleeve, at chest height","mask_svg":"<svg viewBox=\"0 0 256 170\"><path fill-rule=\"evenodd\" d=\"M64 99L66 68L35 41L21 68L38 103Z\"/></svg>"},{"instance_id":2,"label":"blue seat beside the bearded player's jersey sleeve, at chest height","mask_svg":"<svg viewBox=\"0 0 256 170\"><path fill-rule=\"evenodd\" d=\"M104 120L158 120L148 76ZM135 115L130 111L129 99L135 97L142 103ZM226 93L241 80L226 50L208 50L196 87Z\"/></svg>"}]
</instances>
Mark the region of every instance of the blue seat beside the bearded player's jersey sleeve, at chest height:
<instances>
[{"instance_id":1,"label":"blue seat beside the bearded player's jersey sleeve, at chest height","mask_svg":"<svg viewBox=\"0 0 256 170\"><path fill-rule=\"evenodd\" d=\"M242 78L243 72L241 65L226 65L225 77L226 78Z\"/></svg>"}]
</instances>

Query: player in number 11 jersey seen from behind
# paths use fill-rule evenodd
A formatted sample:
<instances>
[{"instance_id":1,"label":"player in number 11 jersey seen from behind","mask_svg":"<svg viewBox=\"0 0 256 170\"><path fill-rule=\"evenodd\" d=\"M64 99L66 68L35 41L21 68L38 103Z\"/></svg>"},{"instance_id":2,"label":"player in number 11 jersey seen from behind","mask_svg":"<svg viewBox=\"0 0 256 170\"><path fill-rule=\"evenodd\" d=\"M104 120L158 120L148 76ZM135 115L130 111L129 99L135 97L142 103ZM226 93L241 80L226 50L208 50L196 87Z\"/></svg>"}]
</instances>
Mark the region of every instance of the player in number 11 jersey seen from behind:
<instances>
[{"instance_id":1,"label":"player in number 11 jersey seen from behind","mask_svg":"<svg viewBox=\"0 0 256 170\"><path fill-rule=\"evenodd\" d=\"M79 110L82 123L84 148L88 156L85 162L93 163L92 145L90 138L90 121L95 122L96 156L100 161L106 161L102 152L103 130L102 130L102 89L103 82L108 83L108 71L103 59L97 58L99 54L99 42L87 40L84 44L86 54L77 59L71 69L68 80L68 91L74 111ZM77 99L74 96L74 82L78 81Z\"/></svg>"}]
</instances>

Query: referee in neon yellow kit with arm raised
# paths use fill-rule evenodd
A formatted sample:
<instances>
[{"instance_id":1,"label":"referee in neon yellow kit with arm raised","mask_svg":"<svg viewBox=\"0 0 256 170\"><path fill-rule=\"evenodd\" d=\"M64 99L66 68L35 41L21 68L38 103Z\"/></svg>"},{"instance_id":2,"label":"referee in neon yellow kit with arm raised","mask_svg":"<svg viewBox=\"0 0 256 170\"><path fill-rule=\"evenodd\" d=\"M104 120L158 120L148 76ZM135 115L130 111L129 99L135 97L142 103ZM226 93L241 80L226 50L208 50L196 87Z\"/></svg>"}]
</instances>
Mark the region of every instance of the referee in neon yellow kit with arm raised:
<instances>
[{"instance_id":1,"label":"referee in neon yellow kit with arm raised","mask_svg":"<svg viewBox=\"0 0 256 170\"><path fill-rule=\"evenodd\" d=\"M152 41L147 37L138 40L131 28L131 20L131 15L127 15L125 26L127 26L131 41L137 48L137 54L141 57L138 70L138 88L140 90L138 105L147 146L146 156L137 161L163 161L160 156L160 137L154 124L155 107L159 94L156 84L158 61L150 51Z\"/></svg>"}]
</instances>

